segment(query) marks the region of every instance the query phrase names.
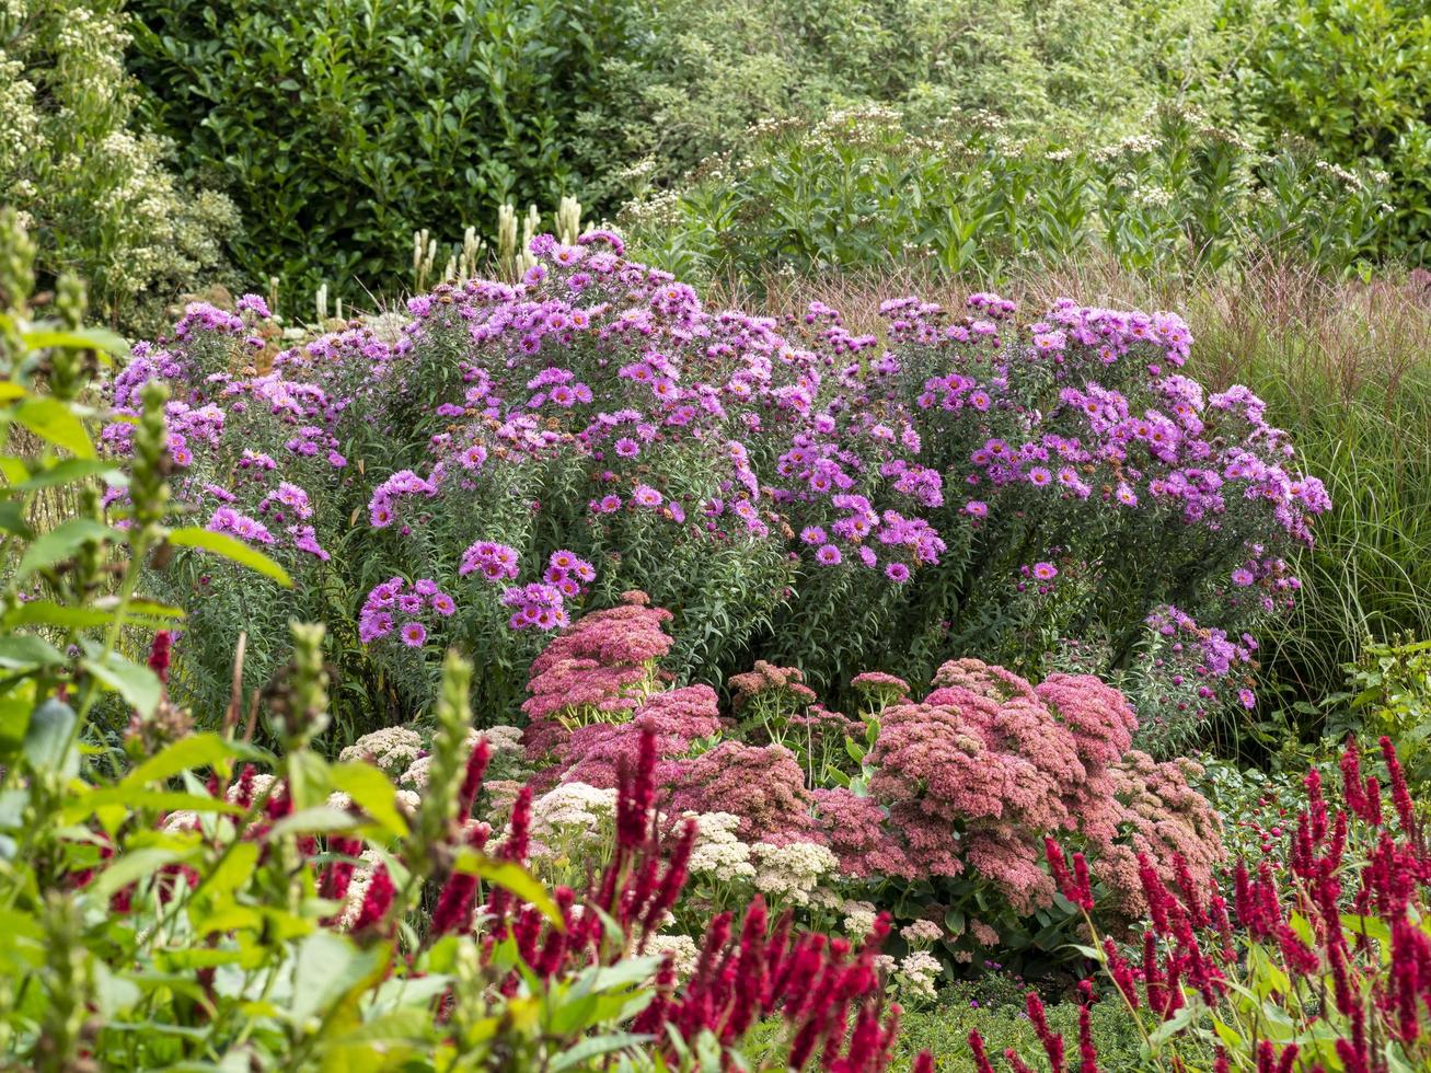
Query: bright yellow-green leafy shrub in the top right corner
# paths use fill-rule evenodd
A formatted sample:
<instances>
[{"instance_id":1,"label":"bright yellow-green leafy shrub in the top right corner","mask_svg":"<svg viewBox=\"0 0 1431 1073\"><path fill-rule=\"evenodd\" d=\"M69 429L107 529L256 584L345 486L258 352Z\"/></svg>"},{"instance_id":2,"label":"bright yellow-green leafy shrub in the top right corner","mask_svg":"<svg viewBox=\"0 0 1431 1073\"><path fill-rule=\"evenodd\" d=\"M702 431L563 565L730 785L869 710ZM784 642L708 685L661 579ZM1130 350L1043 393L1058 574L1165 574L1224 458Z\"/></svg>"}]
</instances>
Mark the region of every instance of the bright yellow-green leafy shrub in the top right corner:
<instances>
[{"instance_id":1,"label":"bright yellow-green leafy shrub in the top right corner","mask_svg":"<svg viewBox=\"0 0 1431 1073\"><path fill-rule=\"evenodd\" d=\"M1234 7L1238 7L1234 3ZM1431 14L1421 0L1284 0L1248 52L1242 106L1274 136L1388 176L1379 252L1431 256ZM1255 23L1254 23L1255 24Z\"/></svg>"}]
</instances>

